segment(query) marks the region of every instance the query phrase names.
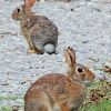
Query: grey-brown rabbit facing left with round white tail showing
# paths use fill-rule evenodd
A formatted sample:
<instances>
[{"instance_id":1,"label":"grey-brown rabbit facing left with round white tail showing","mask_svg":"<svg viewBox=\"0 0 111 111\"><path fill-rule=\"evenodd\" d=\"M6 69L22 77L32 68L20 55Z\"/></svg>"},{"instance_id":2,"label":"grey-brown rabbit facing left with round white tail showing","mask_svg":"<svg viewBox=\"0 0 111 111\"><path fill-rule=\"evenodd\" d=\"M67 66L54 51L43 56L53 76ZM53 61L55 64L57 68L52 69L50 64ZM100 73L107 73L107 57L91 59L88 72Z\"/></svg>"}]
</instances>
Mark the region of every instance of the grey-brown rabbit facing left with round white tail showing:
<instances>
[{"instance_id":1,"label":"grey-brown rabbit facing left with round white tail showing","mask_svg":"<svg viewBox=\"0 0 111 111\"><path fill-rule=\"evenodd\" d=\"M13 11L12 19L20 21L21 32L29 43L29 53L54 53L58 28L47 17L32 13L34 3L36 0L24 0L24 4Z\"/></svg>"}]
</instances>

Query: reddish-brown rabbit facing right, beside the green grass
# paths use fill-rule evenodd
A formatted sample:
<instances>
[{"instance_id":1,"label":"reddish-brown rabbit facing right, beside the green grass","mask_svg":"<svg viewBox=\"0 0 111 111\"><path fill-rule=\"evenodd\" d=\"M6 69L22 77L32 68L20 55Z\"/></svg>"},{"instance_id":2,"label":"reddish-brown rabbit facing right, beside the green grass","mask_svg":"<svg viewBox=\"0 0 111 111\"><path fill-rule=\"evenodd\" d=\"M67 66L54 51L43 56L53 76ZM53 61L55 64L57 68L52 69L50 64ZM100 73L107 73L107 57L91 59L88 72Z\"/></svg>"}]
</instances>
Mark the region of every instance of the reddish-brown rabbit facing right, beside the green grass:
<instances>
[{"instance_id":1,"label":"reddish-brown rabbit facing right, beside the green grass","mask_svg":"<svg viewBox=\"0 0 111 111\"><path fill-rule=\"evenodd\" d=\"M94 73L75 62L73 49L64 49L68 75L50 73L37 80L24 95L24 111L78 111Z\"/></svg>"}]
</instances>

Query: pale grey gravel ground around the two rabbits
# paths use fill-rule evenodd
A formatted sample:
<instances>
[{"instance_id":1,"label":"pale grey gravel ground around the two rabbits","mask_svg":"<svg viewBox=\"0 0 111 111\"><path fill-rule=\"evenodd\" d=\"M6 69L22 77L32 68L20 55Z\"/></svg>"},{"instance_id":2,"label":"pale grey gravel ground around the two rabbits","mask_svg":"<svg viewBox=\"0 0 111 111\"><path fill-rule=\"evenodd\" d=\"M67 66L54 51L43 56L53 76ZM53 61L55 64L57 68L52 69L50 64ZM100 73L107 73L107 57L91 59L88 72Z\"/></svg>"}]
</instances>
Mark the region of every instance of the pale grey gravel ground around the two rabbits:
<instances>
[{"instance_id":1,"label":"pale grey gravel ground around the two rabbits","mask_svg":"<svg viewBox=\"0 0 111 111\"><path fill-rule=\"evenodd\" d=\"M11 19L23 1L0 0L0 97L23 97L41 75L67 74L63 48L68 47L75 50L79 63L89 67L97 79L102 78L104 72L93 68L111 65L111 2L107 1L37 2L33 12L48 17L59 29L58 53L29 54L19 22ZM0 108L18 104L18 100L0 102Z\"/></svg>"}]
</instances>

